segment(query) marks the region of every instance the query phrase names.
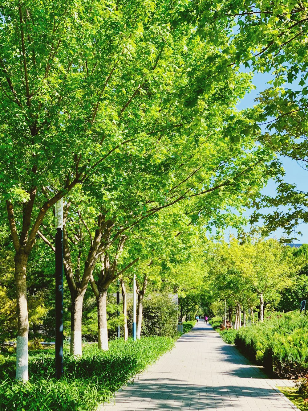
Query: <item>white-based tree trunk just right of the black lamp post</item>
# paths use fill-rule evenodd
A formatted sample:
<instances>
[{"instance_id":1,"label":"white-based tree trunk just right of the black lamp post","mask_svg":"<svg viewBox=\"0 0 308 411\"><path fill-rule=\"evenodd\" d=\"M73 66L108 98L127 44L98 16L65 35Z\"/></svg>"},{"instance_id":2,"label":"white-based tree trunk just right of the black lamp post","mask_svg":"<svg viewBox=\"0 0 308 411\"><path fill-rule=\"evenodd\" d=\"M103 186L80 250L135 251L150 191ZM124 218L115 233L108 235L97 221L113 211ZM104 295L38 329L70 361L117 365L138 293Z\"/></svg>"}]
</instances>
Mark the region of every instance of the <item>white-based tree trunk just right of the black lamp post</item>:
<instances>
[{"instance_id":1,"label":"white-based tree trunk just right of the black lamp post","mask_svg":"<svg viewBox=\"0 0 308 411\"><path fill-rule=\"evenodd\" d=\"M71 296L71 356L81 356L81 319L83 314L83 296L77 293Z\"/></svg>"}]
</instances>

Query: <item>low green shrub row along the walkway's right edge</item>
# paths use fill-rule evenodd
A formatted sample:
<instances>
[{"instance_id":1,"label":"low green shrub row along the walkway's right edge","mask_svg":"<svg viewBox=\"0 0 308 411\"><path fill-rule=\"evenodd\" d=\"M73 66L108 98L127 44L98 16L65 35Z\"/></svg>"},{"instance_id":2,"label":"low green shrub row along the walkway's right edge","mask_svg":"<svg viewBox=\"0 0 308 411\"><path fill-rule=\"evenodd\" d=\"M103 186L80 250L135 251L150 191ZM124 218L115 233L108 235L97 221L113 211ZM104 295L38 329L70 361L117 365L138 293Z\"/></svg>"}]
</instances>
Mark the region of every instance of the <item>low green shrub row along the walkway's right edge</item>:
<instances>
[{"instance_id":1,"label":"low green shrub row along the walkway's right edge","mask_svg":"<svg viewBox=\"0 0 308 411\"><path fill-rule=\"evenodd\" d=\"M308 317L299 312L275 313L263 323L238 331L220 331L228 344L235 343L248 358L267 372L285 378L307 374Z\"/></svg>"}]
</instances>

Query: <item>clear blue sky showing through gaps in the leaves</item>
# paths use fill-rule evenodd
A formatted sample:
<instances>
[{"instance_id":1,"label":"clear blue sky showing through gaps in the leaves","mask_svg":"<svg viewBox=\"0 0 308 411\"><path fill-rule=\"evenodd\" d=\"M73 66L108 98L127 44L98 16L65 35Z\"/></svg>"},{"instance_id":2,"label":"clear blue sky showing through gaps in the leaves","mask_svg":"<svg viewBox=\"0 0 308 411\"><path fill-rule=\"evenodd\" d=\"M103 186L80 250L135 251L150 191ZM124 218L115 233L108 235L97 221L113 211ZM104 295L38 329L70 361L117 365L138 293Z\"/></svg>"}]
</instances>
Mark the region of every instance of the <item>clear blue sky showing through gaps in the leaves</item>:
<instances>
[{"instance_id":1,"label":"clear blue sky showing through gaps in the leaves","mask_svg":"<svg viewBox=\"0 0 308 411\"><path fill-rule=\"evenodd\" d=\"M257 73L253 77L253 84L255 85L255 90L251 90L250 93L246 94L244 99L242 99L239 104L237 105L238 109L245 109L247 107L252 107L255 102L254 99L262 92L265 88L268 87L266 84L269 80L273 77L270 73ZM292 87L289 85L290 88ZM308 180L308 170L304 170L296 161L282 157L281 161L283 163L283 167L285 169L285 177L284 180L287 183L297 184L299 190L308 191L307 190L307 180ZM276 185L273 180L270 180L267 187L263 189L263 193L275 196ZM298 226L297 231L301 231L303 235L299 237L299 243L308 243L308 224L301 224ZM228 230L228 233L236 234L234 230ZM228 236L227 233L227 236ZM283 230L278 229L273 233L270 237L272 238L280 238L283 236Z\"/></svg>"}]
</instances>

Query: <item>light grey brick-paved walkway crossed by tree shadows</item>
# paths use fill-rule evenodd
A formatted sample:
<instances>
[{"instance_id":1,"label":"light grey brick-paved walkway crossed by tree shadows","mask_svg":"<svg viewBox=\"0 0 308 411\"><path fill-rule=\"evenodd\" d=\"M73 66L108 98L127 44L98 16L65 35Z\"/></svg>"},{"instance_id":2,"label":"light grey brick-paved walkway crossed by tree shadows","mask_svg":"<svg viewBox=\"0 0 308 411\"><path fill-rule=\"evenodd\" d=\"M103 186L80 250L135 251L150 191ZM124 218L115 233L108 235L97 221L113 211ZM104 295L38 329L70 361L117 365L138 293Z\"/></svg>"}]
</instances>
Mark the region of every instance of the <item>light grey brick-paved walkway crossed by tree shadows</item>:
<instances>
[{"instance_id":1,"label":"light grey brick-paved walkway crossed by tree shadows","mask_svg":"<svg viewBox=\"0 0 308 411\"><path fill-rule=\"evenodd\" d=\"M297 410L275 388L285 385L292 383L268 379L211 326L199 322L100 411Z\"/></svg>"}]
</instances>

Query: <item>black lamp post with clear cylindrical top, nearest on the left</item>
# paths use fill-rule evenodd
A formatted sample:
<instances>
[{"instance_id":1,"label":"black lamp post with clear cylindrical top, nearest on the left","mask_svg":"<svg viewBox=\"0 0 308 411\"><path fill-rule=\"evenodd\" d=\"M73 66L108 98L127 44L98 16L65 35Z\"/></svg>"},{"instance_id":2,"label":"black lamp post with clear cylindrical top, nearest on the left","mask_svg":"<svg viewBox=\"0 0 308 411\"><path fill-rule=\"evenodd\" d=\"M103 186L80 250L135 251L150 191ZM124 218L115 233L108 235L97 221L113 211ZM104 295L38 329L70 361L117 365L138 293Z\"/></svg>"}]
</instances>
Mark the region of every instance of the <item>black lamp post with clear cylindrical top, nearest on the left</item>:
<instances>
[{"instance_id":1,"label":"black lamp post with clear cylindrical top, nearest on the left","mask_svg":"<svg viewBox=\"0 0 308 411\"><path fill-rule=\"evenodd\" d=\"M55 203L55 376L63 374L63 199Z\"/></svg>"}]
</instances>

